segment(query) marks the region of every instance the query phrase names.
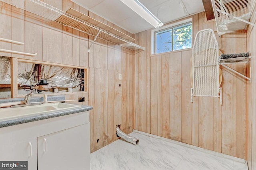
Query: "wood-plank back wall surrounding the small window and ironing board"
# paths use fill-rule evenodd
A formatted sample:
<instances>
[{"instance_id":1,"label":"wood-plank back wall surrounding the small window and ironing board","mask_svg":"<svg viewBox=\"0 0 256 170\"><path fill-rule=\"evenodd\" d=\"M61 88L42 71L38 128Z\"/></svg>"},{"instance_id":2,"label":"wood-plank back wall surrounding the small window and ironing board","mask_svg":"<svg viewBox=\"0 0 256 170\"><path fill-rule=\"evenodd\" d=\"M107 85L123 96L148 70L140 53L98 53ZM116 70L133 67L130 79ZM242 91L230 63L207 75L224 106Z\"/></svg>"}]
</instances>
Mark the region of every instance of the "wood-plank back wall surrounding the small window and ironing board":
<instances>
[{"instance_id":1,"label":"wood-plank back wall surrounding the small window and ironing board","mask_svg":"<svg viewBox=\"0 0 256 170\"><path fill-rule=\"evenodd\" d=\"M199 30L213 29L222 53L246 52L246 31L220 38L215 21L207 21L204 12L192 16L192 25L194 37ZM134 129L246 159L248 82L222 68L223 105L214 97L197 96L191 103L192 49L150 55L150 32L135 35L146 52L135 54ZM231 67L247 74L246 64Z\"/></svg>"}]
</instances>

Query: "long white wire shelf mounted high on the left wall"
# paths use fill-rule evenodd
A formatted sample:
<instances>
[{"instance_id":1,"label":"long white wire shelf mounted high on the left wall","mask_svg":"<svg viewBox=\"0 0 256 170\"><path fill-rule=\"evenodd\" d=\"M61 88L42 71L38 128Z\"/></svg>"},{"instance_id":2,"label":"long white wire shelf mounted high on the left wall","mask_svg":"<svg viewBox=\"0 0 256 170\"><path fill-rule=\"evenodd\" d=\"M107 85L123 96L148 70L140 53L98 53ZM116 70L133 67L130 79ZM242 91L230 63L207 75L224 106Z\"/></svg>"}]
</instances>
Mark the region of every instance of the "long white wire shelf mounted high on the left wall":
<instances>
[{"instance_id":1,"label":"long white wire shelf mounted high on the left wall","mask_svg":"<svg viewBox=\"0 0 256 170\"><path fill-rule=\"evenodd\" d=\"M4 0L0 0L0 1L4 2ZM50 1L50 0L48 0L47 2L54 3L53 1ZM115 33L114 34L110 31L106 31L105 29L90 23L89 21L83 20L83 18L85 18L85 15L81 16L80 18L77 16L74 16L75 14L77 15L77 13L79 14L80 12L76 11L75 13L74 12L75 10L73 10L72 8L71 8L72 9L71 12L73 12L74 15L70 14L71 12L68 13L69 10L67 12L60 10L59 8L62 8L62 6L59 6L59 8L54 7L54 5L58 7L58 4L50 5L40 0L12 0L10 5L16 6L16 8L23 9L33 14L37 14L38 16L42 16L43 18L46 18L48 20L56 21L58 23L61 23L64 26L71 27L78 31L84 32L88 35L92 35L95 37L94 41L96 40L96 38L100 38L105 41L109 41L111 43L120 45L128 49L145 50L145 47L141 47L140 45L137 45L129 41L129 39L132 39L132 38L122 33L121 31L114 30L114 33ZM92 18L90 18L90 20L92 20ZM94 23L95 21L96 20L94 20ZM98 23L97 25L100 25ZM107 26L107 25L104 25L104 26ZM92 43L94 43L94 41ZM88 49L88 51L90 51L90 48Z\"/></svg>"}]
</instances>

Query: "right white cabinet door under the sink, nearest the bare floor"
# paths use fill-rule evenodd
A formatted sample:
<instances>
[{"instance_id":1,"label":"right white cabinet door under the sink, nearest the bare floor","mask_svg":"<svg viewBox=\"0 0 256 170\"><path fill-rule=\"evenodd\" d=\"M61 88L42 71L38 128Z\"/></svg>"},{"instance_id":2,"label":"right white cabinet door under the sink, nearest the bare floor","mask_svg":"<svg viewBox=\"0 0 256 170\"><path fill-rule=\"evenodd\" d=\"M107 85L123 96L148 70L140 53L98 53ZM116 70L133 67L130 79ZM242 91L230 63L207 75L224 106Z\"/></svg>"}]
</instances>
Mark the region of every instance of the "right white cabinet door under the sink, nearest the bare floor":
<instances>
[{"instance_id":1,"label":"right white cabinet door under the sink, nearest the bare floor","mask_svg":"<svg viewBox=\"0 0 256 170\"><path fill-rule=\"evenodd\" d=\"M38 170L90 170L90 124L37 138Z\"/></svg>"}]
</instances>

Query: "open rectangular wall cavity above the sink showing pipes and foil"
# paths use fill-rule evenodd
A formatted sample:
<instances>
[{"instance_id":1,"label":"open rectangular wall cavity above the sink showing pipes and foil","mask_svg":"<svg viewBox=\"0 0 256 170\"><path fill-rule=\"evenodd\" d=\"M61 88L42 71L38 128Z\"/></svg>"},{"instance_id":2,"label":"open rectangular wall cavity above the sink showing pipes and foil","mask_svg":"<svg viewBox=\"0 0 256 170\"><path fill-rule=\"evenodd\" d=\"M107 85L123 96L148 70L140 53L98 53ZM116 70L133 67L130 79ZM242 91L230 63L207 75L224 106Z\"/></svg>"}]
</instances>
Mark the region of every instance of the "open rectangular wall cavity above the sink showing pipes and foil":
<instances>
[{"instance_id":1,"label":"open rectangular wall cavity above the sink showing pipes and foil","mask_svg":"<svg viewBox=\"0 0 256 170\"><path fill-rule=\"evenodd\" d=\"M0 57L0 61L1 98L21 97L31 92L87 91L87 87L85 87L87 86L87 69L56 66L47 63L36 64L34 61L20 61L20 59L10 57ZM15 88L11 89L12 81L16 82L14 83L16 84L15 88L17 87L16 90Z\"/></svg>"}]
</instances>

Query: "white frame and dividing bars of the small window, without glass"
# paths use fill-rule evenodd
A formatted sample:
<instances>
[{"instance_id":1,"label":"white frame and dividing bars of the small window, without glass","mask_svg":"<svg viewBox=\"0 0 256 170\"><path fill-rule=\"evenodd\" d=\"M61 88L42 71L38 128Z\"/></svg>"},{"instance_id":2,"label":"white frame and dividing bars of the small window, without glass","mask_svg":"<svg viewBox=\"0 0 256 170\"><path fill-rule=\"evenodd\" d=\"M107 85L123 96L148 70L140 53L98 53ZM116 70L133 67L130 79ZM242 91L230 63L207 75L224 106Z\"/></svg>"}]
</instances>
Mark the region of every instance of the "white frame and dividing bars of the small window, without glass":
<instances>
[{"instance_id":1,"label":"white frame and dividing bars of the small window, without glass","mask_svg":"<svg viewBox=\"0 0 256 170\"><path fill-rule=\"evenodd\" d=\"M175 27L179 27L182 25L186 25L188 23L192 23L192 18L188 18L186 20L182 20L182 21L178 21L178 22L174 22L168 25L164 25L163 27L157 28L157 29L153 29L151 31L151 55L158 55L158 54L162 54L162 53L156 53L156 33L160 32L160 31L165 31L168 29L172 29L172 34L173 34L173 28ZM192 28L193 28L193 23L192 23ZM193 41L193 30L192 30L192 40ZM191 47L193 46L193 42L191 42ZM183 50L183 49L179 49L179 50ZM173 51L173 35L172 35L172 50L168 51L168 52L163 52L163 53L169 53ZM175 50L178 51L178 50Z\"/></svg>"}]
</instances>

